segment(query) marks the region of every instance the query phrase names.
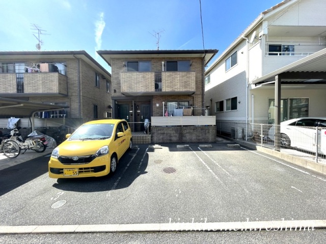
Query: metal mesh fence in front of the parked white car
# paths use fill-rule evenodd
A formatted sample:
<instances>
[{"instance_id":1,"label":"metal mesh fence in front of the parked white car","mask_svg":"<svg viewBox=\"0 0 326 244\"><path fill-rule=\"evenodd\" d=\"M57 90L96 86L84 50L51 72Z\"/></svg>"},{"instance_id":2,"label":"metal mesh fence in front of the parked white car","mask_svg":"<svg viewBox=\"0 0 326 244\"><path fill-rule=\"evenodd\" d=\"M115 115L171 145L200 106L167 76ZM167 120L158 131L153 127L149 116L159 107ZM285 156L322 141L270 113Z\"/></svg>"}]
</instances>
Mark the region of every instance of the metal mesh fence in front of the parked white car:
<instances>
[{"instance_id":1,"label":"metal mesh fence in front of the parked white car","mask_svg":"<svg viewBox=\"0 0 326 244\"><path fill-rule=\"evenodd\" d=\"M326 164L326 128L216 122L216 133Z\"/></svg>"}]
</instances>

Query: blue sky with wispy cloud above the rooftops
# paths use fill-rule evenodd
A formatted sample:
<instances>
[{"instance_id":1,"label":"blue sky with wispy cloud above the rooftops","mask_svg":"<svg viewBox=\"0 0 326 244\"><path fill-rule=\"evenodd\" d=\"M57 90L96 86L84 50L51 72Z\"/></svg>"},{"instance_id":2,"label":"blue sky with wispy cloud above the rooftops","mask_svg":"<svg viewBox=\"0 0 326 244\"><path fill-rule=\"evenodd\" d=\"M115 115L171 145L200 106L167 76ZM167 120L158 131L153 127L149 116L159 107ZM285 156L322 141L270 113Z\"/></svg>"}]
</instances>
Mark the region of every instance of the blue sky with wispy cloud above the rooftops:
<instances>
[{"instance_id":1,"label":"blue sky with wispy cloud above the rooftops","mask_svg":"<svg viewBox=\"0 0 326 244\"><path fill-rule=\"evenodd\" d=\"M282 0L201 0L205 49L218 57L264 10ZM0 51L202 49L199 0L0 0ZM37 34L35 34L38 36ZM156 35L156 37L155 37Z\"/></svg>"}]
</instances>

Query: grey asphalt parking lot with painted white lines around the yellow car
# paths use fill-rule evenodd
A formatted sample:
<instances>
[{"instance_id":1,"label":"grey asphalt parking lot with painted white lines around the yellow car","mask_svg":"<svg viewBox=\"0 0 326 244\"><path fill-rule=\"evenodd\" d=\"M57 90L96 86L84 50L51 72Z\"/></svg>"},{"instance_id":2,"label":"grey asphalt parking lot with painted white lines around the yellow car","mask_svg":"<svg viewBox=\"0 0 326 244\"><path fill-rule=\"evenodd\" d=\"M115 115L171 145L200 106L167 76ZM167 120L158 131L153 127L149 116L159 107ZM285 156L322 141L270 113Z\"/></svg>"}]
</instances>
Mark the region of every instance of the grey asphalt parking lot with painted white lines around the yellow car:
<instances>
[{"instance_id":1,"label":"grey asphalt parking lot with painted white lines around the yellow car","mask_svg":"<svg viewBox=\"0 0 326 244\"><path fill-rule=\"evenodd\" d=\"M142 232L151 239L160 232L252 231L246 239L292 230L289 236L300 240L325 234L324 175L228 140L135 146L115 175L88 179L48 178L51 151L0 155L0 233Z\"/></svg>"}]
</instances>

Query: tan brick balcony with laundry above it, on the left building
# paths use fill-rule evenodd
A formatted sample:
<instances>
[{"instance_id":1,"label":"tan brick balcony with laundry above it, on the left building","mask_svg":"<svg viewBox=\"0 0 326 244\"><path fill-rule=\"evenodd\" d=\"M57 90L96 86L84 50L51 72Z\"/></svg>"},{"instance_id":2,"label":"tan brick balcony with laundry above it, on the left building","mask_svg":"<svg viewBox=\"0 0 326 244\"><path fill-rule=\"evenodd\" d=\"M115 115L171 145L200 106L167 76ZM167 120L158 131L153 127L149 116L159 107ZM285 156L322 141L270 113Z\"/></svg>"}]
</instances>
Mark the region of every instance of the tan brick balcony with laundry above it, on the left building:
<instances>
[{"instance_id":1,"label":"tan brick balcony with laundry above it, on the left building","mask_svg":"<svg viewBox=\"0 0 326 244\"><path fill-rule=\"evenodd\" d=\"M67 76L50 73L0 73L2 86L0 96L67 96Z\"/></svg>"}]
</instances>

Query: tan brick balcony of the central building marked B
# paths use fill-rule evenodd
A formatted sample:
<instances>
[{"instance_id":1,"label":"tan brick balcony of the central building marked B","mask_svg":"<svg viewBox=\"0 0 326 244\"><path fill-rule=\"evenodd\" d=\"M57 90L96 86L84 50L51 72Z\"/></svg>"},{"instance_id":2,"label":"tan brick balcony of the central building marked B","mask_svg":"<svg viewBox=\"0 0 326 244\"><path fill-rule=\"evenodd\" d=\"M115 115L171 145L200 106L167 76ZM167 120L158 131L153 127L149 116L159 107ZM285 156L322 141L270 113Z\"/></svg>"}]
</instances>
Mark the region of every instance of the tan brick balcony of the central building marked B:
<instances>
[{"instance_id":1,"label":"tan brick balcony of the central building marked B","mask_svg":"<svg viewBox=\"0 0 326 244\"><path fill-rule=\"evenodd\" d=\"M121 73L121 93L126 96L190 95L195 90L195 72Z\"/></svg>"}]
</instances>

